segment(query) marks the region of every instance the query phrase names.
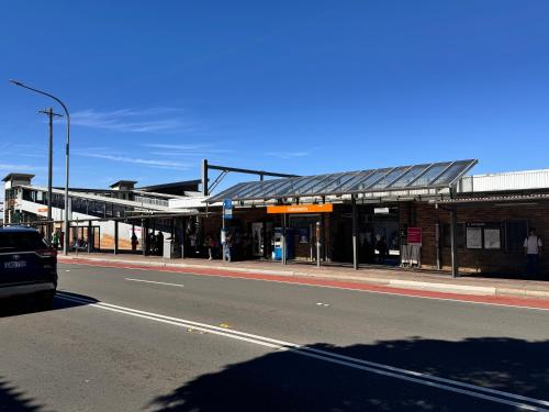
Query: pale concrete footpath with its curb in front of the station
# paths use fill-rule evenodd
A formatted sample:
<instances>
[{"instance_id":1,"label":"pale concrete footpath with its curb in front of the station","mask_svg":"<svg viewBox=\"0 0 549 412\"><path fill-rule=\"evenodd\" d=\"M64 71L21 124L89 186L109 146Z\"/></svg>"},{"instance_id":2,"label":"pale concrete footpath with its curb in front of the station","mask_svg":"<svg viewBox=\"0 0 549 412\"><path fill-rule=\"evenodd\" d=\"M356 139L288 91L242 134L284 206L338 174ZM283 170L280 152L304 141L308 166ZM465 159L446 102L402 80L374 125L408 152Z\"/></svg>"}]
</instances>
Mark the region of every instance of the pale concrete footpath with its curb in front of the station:
<instances>
[{"instance_id":1,"label":"pale concrete footpath with its curb in front of the station","mask_svg":"<svg viewBox=\"0 0 549 412\"><path fill-rule=\"evenodd\" d=\"M350 267L324 266L317 268L305 263L282 266L280 263L251 260L223 263L202 258L166 259L157 256L113 255L113 254L71 254L59 256L61 263L88 263L127 267L150 267L173 270L214 270L232 274L258 274L264 277L313 278L332 281L378 285L395 289L413 289L433 292L459 293L470 296L506 296L516 298L549 299L549 281L498 279L468 276L451 278L446 272L410 270L386 267L369 267L354 270Z\"/></svg>"}]
</instances>

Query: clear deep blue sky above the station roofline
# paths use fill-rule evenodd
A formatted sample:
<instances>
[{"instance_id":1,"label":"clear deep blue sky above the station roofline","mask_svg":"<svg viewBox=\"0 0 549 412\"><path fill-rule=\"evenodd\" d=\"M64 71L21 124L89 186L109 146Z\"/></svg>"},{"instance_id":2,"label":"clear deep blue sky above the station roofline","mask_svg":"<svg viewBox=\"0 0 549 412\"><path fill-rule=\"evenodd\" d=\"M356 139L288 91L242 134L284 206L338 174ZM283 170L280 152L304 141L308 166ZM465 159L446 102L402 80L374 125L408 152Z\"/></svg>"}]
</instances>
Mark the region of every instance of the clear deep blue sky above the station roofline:
<instances>
[{"instance_id":1,"label":"clear deep blue sky above the station roofline","mask_svg":"<svg viewBox=\"0 0 549 412\"><path fill-rule=\"evenodd\" d=\"M548 21L546 0L4 1L0 172L46 182L51 101L9 78L69 107L72 186L194 179L204 157L546 168ZM55 140L63 186L61 121Z\"/></svg>"}]
</instances>

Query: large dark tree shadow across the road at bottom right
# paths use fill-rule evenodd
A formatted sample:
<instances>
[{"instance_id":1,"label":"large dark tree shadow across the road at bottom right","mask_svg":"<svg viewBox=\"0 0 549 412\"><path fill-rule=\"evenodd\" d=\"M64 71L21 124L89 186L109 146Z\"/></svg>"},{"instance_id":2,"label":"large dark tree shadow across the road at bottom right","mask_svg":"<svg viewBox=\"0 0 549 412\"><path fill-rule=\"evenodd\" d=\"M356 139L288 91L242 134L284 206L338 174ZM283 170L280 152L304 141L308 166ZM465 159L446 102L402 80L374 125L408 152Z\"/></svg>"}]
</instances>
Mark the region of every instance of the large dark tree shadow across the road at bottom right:
<instances>
[{"instance_id":1,"label":"large dark tree shadow across the road at bottom right","mask_svg":"<svg viewBox=\"0 0 549 412\"><path fill-rule=\"evenodd\" d=\"M309 347L462 382L549 398L549 341L426 338ZM203 375L146 408L156 411L508 411L508 405L274 352Z\"/></svg>"}]
</instances>

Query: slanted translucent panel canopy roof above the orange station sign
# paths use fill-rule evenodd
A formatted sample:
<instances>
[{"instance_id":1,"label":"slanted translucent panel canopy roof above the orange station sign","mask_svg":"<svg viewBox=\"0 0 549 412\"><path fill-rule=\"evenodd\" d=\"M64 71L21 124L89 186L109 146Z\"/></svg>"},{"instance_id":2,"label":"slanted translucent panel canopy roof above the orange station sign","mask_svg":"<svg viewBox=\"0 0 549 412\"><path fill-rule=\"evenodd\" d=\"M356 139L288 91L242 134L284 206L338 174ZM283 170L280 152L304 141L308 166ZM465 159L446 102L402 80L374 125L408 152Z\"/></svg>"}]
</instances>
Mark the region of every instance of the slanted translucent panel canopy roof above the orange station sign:
<instances>
[{"instance_id":1,"label":"slanted translucent panel canopy roof above the orange station sign","mask_svg":"<svg viewBox=\"0 0 549 412\"><path fill-rule=\"evenodd\" d=\"M355 193L445 189L457 183L478 160L455 160L359 171L237 183L208 202L309 198Z\"/></svg>"}]
</instances>

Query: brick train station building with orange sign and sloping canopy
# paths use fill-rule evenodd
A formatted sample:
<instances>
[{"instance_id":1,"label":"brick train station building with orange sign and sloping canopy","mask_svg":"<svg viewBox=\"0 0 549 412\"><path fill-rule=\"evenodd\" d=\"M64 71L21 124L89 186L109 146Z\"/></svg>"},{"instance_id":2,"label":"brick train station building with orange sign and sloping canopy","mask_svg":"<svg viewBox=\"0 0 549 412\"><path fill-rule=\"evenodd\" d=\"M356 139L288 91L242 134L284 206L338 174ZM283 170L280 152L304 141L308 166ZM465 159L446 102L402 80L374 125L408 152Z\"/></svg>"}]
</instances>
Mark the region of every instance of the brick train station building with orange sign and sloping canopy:
<instances>
[{"instance_id":1,"label":"brick train station building with orange sign and sloping canopy","mask_svg":"<svg viewBox=\"0 0 549 412\"><path fill-rule=\"evenodd\" d=\"M221 258L222 230L232 259L280 264L408 266L453 275L524 276L525 238L549 240L549 169L471 175L475 159L293 176L212 166L202 178L149 187L121 180L109 189L71 188L69 237L86 252ZM211 180L209 172L219 171ZM227 172L258 179L221 192ZM44 224L47 188L10 174L4 222ZM220 178L221 177L221 178ZM268 179L266 179L268 178ZM64 192L53 190L60 227ZM132 236L139 240L132 250ZM156 250L158 252L158 250ZM540 274L549 274L542 259Z\"/></svg>"}]
</instances>

